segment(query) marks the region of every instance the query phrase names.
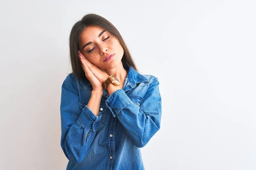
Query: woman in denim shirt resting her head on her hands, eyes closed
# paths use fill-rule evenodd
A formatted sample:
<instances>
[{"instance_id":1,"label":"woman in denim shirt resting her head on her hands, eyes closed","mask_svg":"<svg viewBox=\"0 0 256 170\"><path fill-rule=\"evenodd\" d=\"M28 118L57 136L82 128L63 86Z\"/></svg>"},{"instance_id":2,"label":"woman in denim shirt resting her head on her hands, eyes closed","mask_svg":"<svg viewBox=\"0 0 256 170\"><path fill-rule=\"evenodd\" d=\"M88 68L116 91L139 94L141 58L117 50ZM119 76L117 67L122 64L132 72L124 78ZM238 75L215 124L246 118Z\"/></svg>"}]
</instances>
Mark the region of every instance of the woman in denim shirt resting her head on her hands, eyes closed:
<instances>
[{"instance_id":1,"label":"woman in denim shirt resting her head on her hands, eyes closed","mask_svg":"<svg viewBox=\"0 0 256 170\"><path fill-rule=\"evenodd\" d=\"M160 129L157 77L137 71L119 31L96 14L73 26L70 60L60 106L67 170L143 170L140 147Z\"/></svg>"}]
</instances>

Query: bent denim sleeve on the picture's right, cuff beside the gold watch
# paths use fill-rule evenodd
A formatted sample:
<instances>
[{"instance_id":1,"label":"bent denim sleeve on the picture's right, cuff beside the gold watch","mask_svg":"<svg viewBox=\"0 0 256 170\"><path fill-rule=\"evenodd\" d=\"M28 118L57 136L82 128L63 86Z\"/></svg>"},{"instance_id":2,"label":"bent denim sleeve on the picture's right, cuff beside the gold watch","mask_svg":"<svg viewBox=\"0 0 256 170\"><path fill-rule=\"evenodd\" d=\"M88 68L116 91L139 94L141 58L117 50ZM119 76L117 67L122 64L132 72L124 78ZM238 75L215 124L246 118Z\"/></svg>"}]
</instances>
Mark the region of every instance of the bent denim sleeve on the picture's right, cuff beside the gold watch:
<instances>
[{"instance_id":1,"label":"bent denim sleeve on the picture's right, cuff beside the gold watch","mask_svg":"<svg viewBox=\"0 0 256 170\"><path fill-rule=\"evenodd\" d=\"M114 91L106 100L106 105L137 147L144 147L160 129L162 101L156 77L149 85L140 106L132 102L123 89Z\"/></svg>"}]
</instances>

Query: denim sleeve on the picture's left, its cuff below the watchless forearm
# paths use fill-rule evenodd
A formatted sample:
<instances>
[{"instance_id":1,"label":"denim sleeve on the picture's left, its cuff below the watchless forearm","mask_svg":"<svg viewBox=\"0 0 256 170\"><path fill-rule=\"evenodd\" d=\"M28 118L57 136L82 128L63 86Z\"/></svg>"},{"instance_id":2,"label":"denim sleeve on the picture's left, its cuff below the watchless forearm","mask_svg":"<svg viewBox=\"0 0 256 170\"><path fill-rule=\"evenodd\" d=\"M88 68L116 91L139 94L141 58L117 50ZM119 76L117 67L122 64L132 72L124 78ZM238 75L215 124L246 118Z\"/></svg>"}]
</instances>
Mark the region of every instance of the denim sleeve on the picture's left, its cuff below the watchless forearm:
<instances>
[{"instance_id":1,"label":"denim sleeve on the picture's left, its cuff below the watchless forearm","mask_svg":"<svg viewBox=\"0 0 256 170\"><path fill-rule=\"evenodd\" d=\"M61 86L61 148L72 162L81 163L89 152L101 120L85 105L79 109L76 78L69 74Z\"/></svg>"}]
</instances>

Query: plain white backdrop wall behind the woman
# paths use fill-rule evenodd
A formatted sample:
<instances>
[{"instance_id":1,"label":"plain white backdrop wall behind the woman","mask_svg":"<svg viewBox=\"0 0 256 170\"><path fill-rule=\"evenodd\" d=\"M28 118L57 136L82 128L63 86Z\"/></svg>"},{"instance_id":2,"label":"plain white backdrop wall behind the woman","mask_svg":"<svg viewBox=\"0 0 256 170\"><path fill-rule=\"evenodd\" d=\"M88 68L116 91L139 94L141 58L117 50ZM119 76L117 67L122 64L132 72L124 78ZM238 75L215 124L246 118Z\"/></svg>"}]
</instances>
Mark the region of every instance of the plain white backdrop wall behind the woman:
<instances>
[{"instance_id":1,"label":"plain white backdrop wall behind the woman","mask_svg":"<svg viewBox=\"0 0 256 170\"><path fill-rule=\"evenodd\" d=\"M1 1L1 169L66 168L68 38L95 13L160 82L161 127L141 149L146 170L255 170L255 8L253 0Z\"/></svg>"}]
</instances>

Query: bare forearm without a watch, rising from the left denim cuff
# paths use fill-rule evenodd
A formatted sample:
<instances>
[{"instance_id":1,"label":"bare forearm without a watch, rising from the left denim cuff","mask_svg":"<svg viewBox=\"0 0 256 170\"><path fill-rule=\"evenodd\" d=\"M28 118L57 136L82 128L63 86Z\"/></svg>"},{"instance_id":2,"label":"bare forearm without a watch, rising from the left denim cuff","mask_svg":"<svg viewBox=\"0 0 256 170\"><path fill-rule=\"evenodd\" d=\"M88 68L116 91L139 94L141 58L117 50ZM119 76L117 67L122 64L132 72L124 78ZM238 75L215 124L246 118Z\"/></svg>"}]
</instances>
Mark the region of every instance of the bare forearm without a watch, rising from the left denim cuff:
<instances>
[{"instance_id":1,"label":"bare forearm without a watch, rising from the left denim cuff","mask_svg":"<svg viewBox=\"0 0 256 170\"><path fill-rule=\"evenodd\" d=\"M92 91L90 100L87 104L88 108L93 112L95 116L99 114L99 105L102 98L103 91Z\"/></svg>"}]
</instances>

